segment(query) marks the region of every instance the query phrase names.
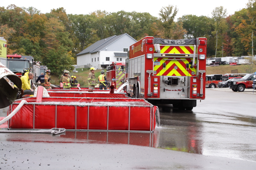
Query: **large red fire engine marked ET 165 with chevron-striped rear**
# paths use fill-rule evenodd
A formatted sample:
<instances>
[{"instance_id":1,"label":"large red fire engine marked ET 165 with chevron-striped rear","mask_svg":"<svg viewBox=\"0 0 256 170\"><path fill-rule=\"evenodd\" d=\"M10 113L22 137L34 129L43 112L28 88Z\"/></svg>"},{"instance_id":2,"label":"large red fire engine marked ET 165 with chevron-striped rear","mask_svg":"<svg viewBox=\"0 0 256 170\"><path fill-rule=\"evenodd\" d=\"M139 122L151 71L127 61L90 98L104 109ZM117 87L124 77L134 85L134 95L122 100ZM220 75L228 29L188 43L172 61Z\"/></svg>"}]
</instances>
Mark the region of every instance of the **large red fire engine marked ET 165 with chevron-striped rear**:
<instances>
[{"instance_id":1,"label":"large red fire engine marked ET 165 with chevron-striped rear","mask_svg":"<svg viewBox=\"0 0 256 170\"><path fill-rule=\"evenodd\" d=\"M192 110L205 99L206 38L144 37L130 46L125 68L131 97Z\"/></svg>"}]
</instances>

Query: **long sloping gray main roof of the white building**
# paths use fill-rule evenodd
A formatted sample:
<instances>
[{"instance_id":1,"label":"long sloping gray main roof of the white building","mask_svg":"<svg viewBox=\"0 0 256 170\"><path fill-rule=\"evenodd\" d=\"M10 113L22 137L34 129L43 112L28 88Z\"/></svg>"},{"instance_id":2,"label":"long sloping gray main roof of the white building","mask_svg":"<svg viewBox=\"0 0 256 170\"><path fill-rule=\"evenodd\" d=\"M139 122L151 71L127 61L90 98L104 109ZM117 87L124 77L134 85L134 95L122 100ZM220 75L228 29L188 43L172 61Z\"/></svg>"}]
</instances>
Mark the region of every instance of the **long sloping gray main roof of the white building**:
<instances>
[{"instance_id":1,"label":"long sloping gray main roof of the white building","mask_svg":"<svg viewBox=\"0 0 256 170\"><path fill-rule=\"evenodd\" d=\"M127 33L124 33L124 34L127 34ZM119 39L120 37L122 37L124 34L117 35L117 36L113 35L111 37L99 40L99 41L95 42L94 44L92 44L91 46L89 46L88 48L85 48L83 51L78 53L76 56L87 54L87 53L99 52L101 49L106 48L109 44L111 44L112 42L114 42L117 39Z\"/></svg>"}]
</instances>

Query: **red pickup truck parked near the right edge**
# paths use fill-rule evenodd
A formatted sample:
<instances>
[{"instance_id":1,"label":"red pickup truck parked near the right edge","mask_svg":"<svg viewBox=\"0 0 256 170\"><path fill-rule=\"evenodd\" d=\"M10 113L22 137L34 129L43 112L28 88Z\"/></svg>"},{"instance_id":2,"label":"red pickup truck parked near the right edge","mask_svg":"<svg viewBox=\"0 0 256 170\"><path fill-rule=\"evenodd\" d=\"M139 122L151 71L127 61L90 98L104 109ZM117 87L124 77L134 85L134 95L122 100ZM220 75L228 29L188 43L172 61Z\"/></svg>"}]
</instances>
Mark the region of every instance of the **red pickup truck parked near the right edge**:
<instances>
[{"instance_id":1,"label":"red pickup truck parked near the right edge","mask_svg":"<svg viewBox=\"0 0 256 170\"><path fill-rule=\"evenodd\" d=\"M241 79L233 79L228 81L228 87L234 92L243 92L244 89L253 88L254 74L247 74Z\"/></svg>"}]
</instances>

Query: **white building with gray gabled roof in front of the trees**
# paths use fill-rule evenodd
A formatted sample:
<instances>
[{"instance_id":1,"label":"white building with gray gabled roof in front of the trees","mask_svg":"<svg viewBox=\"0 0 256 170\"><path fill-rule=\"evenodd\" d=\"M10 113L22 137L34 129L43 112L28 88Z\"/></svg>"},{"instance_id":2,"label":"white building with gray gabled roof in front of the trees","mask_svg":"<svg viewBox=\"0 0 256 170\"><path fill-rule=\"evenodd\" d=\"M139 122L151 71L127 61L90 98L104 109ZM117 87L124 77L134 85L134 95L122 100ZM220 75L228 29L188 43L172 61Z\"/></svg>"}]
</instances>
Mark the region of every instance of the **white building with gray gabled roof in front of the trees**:
<instances>
[{"instance_id":1,"label":"white building with gray gabled roof in front of the trees","mask_svg":"<svg viewBox=\"0 0 256 170\"><path fill-rule=\"evenodd\" d=\"M107 68L111 62L125 62L129 47L137 42L127 33L100 40L76 55L77 68Z\"/></svg>"}]
</instances>

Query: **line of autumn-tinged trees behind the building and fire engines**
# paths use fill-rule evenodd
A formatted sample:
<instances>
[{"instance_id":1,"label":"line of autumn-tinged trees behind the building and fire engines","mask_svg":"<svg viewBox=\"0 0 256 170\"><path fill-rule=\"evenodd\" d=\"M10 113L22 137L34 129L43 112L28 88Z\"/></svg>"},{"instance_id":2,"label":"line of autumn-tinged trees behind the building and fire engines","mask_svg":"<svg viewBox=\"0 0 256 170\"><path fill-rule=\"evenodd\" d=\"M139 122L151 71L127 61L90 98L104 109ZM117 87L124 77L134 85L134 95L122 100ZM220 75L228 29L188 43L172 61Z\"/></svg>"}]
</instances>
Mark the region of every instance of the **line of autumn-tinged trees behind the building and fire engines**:
<instances>
[{"instance_id":1,"label":"line of autumn-tinged trees behind the building and fire engines","mask_svg":"<svg viewBox=\"0 0 256 170\"><path fill-rule=\"evenodd\" d=\"M7 54L31 55L52 73L72 70L76 54L101 39L128 33L135 40L145 36L165 39L207 38L207 57L253 55L256 0L227 16L222 6L212 17L183 15L176 6L162 7L159 18L147 12L94 11L67 14L64 8L41 13L33 7L0 7L0 36L8 43Z\"/></svg>"}]
</instances>

